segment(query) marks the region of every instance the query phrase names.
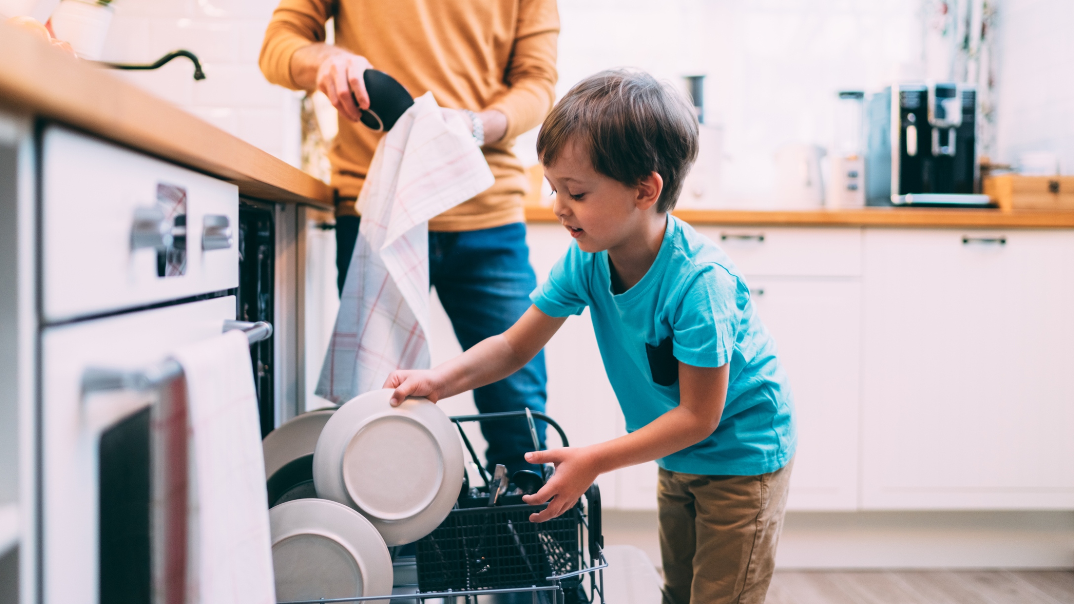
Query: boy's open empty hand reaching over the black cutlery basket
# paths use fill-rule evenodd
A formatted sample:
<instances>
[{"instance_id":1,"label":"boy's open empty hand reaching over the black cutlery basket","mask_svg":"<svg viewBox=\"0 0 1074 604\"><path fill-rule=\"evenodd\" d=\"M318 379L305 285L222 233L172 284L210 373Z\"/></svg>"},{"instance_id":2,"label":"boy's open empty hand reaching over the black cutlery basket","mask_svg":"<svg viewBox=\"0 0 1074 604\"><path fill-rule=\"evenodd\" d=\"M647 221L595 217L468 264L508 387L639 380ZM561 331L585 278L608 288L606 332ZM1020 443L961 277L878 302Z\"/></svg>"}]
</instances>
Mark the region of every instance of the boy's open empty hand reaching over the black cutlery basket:
<instances>
[{"instance_id":1,"label":"boy's open empty hand reaching over the black cutlery basket","mask_svg":"<svg viewBox=\"0 0 1074 604\"><path fill-rule=\"evenodd\" d=\"M552 500L540 514L531 514L531 522L551 520L574 507L578 498L590 488L600 474L597 460L590 447L563 447L526 454L529 463L554 463L555 474L536 493L523 495L522 501L539 505ZM554 498L554 499L553 499Z\"/></svg>"}]
</instances>

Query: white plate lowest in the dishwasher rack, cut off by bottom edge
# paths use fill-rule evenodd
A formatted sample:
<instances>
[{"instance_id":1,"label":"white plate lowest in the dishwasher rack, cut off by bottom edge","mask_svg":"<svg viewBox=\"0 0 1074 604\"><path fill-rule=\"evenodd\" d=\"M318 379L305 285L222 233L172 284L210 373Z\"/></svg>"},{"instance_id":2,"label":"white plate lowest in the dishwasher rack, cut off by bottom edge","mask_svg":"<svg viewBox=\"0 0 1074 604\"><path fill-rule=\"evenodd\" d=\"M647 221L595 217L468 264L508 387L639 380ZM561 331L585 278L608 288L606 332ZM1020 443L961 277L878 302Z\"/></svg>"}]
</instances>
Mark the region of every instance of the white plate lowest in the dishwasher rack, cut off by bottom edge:
<instances>
[{"instance_id":1,"label":"white plate lowest in the dishwasher rack, cut off by bottom edge","mask_svg":"<svg viewBox=\"0 0 1074 604\"><path fill-rule=\"evenodd\" d=\"M391 594L392 557L361 514L297 499L270 509L268 522L277 602Z\"/></svg>"}]
</instances>

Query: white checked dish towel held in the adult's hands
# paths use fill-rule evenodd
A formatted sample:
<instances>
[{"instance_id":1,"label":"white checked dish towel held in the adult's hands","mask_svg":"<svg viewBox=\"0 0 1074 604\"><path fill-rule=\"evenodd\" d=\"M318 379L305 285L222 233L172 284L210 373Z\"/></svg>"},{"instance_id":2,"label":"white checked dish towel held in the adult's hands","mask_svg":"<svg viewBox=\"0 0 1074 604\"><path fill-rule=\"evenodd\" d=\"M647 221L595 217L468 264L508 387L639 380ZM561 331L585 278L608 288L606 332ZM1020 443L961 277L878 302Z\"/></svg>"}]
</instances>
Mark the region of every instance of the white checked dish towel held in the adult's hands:
<instances>
[{"instance_id":1,"label":"white checked dish towel held in the adult's hands","mask_svg":"<svg viewBox=\"0 0 1074 604\"><path fill-rule=\"evenodd\" d=\"M343 403L397 369L429 368L429 219L493 182L468 121L432 92L380 139L317 394Z\"/></svg>"}]
</instances>

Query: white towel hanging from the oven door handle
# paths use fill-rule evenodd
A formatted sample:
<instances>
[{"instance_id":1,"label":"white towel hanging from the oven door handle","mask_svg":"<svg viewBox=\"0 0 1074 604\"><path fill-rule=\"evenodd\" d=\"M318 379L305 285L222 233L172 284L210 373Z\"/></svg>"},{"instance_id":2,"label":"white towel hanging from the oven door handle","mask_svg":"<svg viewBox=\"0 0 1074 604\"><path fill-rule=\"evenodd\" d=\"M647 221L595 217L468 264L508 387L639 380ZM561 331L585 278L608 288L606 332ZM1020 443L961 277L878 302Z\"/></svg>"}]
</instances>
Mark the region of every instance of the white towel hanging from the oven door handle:
<instances>
[{"instance_id":1,"label":"white towel hanging from the oven door handle","mask_svg":"<svg viewBox=\"0 0 1074 604\"><path fill-rule=\"evenodd\" d=\"M193 604L273 604L268 494L261 422L242 331L174 351L190 430L187 598Z\"/></svg>"}]
</instances>

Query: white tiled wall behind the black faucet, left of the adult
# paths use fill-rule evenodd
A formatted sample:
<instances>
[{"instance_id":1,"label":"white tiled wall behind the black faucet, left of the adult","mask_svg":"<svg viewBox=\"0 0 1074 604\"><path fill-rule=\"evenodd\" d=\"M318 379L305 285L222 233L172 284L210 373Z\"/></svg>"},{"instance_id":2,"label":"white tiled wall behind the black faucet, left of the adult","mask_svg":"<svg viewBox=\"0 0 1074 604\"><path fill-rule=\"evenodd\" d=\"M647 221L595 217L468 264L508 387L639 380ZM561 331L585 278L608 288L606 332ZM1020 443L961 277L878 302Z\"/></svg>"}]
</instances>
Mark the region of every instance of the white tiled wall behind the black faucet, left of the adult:
<instances>
[{"instance_id":1,"label":"white tiled wall behind the black faucet, left of the adult","mask_svg":"<svg viewBox=\"0 0 1074 604\"><path fill-rule=\"evenodd\" d=\"M258 55L277 0L117 0L104 60L153 62L185 48L206 78L174 59L156 71L120 72L135 85L218 128L299 166L301 131L294 92L268 84ZM293 114L293 115L291 115Z\"/></svg>"}]
</instances>

